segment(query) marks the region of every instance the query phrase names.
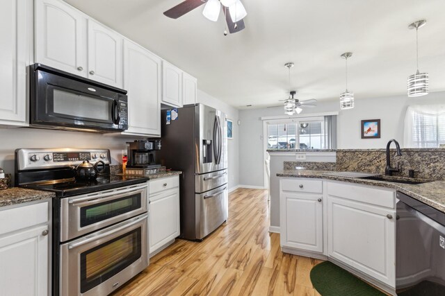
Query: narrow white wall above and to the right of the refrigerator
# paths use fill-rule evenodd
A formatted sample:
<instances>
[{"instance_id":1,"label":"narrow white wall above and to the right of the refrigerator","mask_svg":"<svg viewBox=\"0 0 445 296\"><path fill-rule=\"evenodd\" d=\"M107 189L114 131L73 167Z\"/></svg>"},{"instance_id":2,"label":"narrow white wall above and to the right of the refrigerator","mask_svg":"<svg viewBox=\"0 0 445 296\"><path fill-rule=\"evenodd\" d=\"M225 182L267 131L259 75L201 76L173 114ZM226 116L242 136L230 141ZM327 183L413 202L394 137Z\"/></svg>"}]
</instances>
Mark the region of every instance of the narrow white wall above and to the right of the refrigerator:
<instances>
[{"instance_id":1,"label":"narrow white wall above and to the right of the refrigerator","mask_svg":"<svg viewBox=\"0 0 445 296\"><path fill-rule=\"evenodd\" d=\"M227 165L227 173L229 176L229 190L233 189L239 184L239 154L238 154L238 142L239 142L239 129L238 129L238 109L223 103L223 101L210 96L209 94L202 92L200 89L197 91L197 103L209 105L216 108L225 114L228 119L232 119L233 125L233 139L227 140L229 164Z\"/></svg>"}]
</instances>

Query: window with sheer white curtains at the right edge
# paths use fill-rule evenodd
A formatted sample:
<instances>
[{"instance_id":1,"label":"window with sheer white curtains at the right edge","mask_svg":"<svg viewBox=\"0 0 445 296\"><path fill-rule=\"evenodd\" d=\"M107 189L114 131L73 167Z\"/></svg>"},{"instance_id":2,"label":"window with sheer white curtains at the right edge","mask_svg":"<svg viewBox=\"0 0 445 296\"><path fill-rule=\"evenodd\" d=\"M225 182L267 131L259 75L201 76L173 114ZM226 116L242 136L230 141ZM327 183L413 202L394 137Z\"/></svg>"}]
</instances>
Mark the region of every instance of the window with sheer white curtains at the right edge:
<instances>
[{"instance_id":1,"label":"window with sheer white curtains at the right edge","mask_svg":"<svg viewBox=\"0 0 445 296\"><path fill-rule=\"evenodd\" d=\"M412 105L405 115L406 148L445 147L445 105Z\"/></svg>"}]
</instances>

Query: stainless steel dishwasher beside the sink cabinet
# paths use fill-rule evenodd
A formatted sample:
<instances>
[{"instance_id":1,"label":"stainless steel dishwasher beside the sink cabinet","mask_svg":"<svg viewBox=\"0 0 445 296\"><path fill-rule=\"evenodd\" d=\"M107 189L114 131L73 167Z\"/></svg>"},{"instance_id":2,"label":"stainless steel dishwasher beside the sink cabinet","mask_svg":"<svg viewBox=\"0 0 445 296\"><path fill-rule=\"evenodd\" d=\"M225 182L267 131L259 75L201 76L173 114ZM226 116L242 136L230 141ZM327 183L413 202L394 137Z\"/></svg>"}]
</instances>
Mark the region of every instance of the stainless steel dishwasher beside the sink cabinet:
<instances>
[{"instance_id":1,"label":"stainless steel dishwasher beside the sink cabinet","mask_svg":"<svg viewBox=\"0 0 445 296\"><path fill-rule=\"evenodd\" d=\"M396 293L445 295L445 213L397 192Z\"/></svg>"}]
</instances>

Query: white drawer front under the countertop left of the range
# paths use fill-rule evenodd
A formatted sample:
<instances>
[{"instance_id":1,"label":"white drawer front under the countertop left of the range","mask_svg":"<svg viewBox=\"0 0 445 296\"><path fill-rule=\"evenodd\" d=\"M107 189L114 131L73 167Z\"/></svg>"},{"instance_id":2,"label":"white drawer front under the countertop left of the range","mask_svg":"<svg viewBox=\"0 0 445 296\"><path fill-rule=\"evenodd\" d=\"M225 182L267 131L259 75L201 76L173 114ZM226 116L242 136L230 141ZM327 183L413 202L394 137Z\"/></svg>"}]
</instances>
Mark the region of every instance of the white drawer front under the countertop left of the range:
<instances>
[{"instance_id":1,"label":"white drawer front under the countertop left of the range","mask_svg":"<svg viewBox=\"0 0 445 296\"><path fill-rule=\"evenodd\" d=\"M47 223L49 220L49 202L29 204L23 207L0 211L0 235L18 229Z\"/></svg>"}]
</instances>

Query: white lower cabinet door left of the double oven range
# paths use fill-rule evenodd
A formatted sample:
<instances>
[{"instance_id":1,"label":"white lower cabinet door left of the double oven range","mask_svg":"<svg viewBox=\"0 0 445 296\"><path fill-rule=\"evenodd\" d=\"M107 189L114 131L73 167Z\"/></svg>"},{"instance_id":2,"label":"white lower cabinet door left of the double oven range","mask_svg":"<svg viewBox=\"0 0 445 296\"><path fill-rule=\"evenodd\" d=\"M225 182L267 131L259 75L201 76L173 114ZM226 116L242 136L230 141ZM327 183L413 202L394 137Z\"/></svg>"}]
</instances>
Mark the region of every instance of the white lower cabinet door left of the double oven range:
<instances>
[{"instance_id":1,"label":"white lower cabinet door left of the double oven range","mask_svg":"<svg viewBox=\"0 0 445 296\"><path fill-rule=\"evenodd\" d=\"M0 295L48 294L47 225L0 236Z\"/></svg>"}]
</instances>

